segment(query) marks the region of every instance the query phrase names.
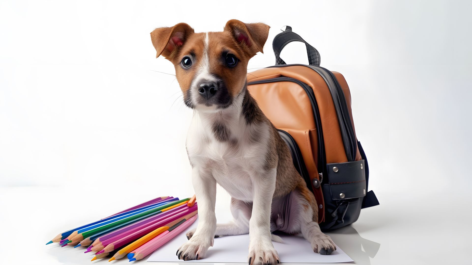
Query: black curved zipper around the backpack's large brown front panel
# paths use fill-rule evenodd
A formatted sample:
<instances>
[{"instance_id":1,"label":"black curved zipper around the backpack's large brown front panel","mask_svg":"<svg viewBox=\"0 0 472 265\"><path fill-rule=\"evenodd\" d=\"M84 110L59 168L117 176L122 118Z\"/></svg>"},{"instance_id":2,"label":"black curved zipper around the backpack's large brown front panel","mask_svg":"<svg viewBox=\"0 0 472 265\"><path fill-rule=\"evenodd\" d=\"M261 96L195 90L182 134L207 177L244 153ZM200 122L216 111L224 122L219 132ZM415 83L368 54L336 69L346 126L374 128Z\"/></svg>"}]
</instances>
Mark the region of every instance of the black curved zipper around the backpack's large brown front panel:
<instances>
[{"instance_id":1,"label":"black curved zipper around the backpack's large brown front panel","mask_svg":"<svg viewBox=\"0 0 472 265\"><path fill-rule=\"evenodd\" d=\"M306 94L308 95L308 98L310 99L310 103L312 104L312 109L313 109L313 117L315 118L316 132L318 136L318 162L316 164L317 164L318 172L324 173L326 172L326 158L325 158L325 150L324 150L323 130L321 128L320 112L318 110L318 104L316 103L316 98L315 98L315 94L313 93L313 89L309 85L303 83L302 81L295 78L291 78L291 77L276 77L276 78L271 78L271 79L264 79L264 80L249 82L247 85L284 82L284 81L294 82L298 84L299 86L301 86L303 90L305 90ZM286 133L288 134L288 132ZM310 180L308 180L307 184L309 184L307 186L309 186L310 188L312 187Z\"/></svg>"}]
</instances>

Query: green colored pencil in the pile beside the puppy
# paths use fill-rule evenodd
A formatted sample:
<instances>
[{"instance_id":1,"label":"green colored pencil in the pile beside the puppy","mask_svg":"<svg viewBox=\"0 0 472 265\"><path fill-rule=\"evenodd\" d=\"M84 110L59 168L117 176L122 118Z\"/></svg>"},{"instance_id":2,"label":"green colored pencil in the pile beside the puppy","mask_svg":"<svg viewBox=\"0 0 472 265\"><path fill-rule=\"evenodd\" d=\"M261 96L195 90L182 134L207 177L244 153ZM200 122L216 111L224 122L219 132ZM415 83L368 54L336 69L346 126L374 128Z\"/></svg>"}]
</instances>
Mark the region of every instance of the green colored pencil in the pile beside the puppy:
<instances>
[{"instance_id":1,"label":"green colored pencil in the pile beside the puppy","mask_svg":"<svg viewBox=\"0 0 472 265\"><path fill-rule=\"evenodd\" d=\"M149 209L147 211L140 212L140 213L137 213L135 215L126 217L124 219L121 219L121 220L103 225L101 227L97 227L95 229L79 233L74 238L71 239L72 240L71 245L76 245L78 242L84 240L84 238L87 238L87 237L89 237L93 234L96 234L98 232L108 230L108 229L112 229L112 228L116 228L120 225L126 225L126 224L129 224L129 223L135 222L135 221L142 220L146 217L149 217L151 215L154 215L156 213L161 212L162 209L168 208L169 206L175 205L177 203L182 203L182 202L188 201L189 199L190 198L182 199L182 200L179 200L179 201L173 201L173 202L170 202L168 204L165 204L165 205L162 205L162 206L159 206L159 207L156 207L156 208L152 208L152 209Z\"/></svg>"}]
</instances>

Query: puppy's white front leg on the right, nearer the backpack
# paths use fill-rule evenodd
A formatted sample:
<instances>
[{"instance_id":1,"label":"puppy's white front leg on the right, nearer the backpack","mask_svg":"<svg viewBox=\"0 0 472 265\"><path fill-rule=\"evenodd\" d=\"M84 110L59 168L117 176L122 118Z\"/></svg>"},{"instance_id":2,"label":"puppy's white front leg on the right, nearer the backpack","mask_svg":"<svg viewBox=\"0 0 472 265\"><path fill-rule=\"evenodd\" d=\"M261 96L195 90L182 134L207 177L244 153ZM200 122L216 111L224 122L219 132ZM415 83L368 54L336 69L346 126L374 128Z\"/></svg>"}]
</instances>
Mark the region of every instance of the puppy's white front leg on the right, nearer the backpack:
<instances>
[{"instance_id":1,"label":"puppy's white front leg on the right, nearer the backpack","mask_svg":"<svg viewBox=\"0 0 472 265\"><path fill-rule=\"evenodd\" d=\"M253 181L253 212L249 221L249 265L276 264L278 254L270 234L270 208L277 171L258 172Z\"/></svg>"}]
</instances>

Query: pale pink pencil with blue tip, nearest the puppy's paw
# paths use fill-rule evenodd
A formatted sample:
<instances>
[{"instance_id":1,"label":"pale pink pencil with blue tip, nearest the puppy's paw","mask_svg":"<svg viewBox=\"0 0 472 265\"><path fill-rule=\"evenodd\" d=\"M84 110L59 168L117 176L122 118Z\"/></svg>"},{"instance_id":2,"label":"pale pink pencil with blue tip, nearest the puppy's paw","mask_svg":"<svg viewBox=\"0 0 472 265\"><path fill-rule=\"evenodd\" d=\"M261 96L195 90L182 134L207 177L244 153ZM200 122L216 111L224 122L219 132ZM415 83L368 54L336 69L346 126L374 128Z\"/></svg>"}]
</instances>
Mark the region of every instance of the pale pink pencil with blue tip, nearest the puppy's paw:
<instances>
[{"instance_id":1,"label":"pale pink pencil with blue tip, nearest the puppy's paw","mask_svg":"<svg viewBox=\"0 0 472 265\"><path fill-rule=\"evenodd\" d=\"M173 239L176 235L178 235L180 232L184 231L187 229L196 219L197 219L197 214L193 216L192 218L188 220L182 220L184 221L183 223L177 223L171 228L169 228L169 233L166 233L162 236L155 237L154 239L148 241L146 244L143 246L137 248L135 251L132 253L128 254L129 261L134 261L134 260L140 260L143 259L145 256L148 256L152 252L154 252L156 249L164 245L165 243L169 242L170 239Z\"/></svg>"}]
</instances>

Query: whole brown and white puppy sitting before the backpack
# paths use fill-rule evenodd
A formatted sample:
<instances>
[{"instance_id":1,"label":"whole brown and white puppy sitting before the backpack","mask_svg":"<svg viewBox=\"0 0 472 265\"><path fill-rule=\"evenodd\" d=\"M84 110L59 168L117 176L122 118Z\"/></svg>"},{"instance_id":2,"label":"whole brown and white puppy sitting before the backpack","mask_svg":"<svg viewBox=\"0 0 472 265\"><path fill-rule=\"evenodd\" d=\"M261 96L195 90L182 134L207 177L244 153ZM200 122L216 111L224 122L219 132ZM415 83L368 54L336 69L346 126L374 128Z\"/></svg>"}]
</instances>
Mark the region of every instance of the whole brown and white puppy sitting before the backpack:
<instances>
[{"instance_id":1,"label":"whole brown and white puppy sitting before the backpack","mask_svg":"<svg viewBox=\"0 0 472 265\"><path fill-rule=\"evenodd\" d=\"M316 253L336 250L318 226L318 204L286 143L247 90L247 63L268 34L263 23L235 19L222 32L194 33L179 23L151 33L157 57L174 64L184 102L194 109L186 147L200 219L179 259L205 257L215 236L249 233L249 265L275 264L274 230L302 232ZM216 223L217 183L232 197L234 222Z\"/></svg>"}]
</instances>

